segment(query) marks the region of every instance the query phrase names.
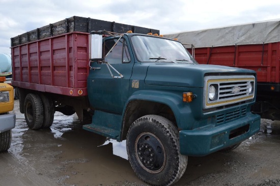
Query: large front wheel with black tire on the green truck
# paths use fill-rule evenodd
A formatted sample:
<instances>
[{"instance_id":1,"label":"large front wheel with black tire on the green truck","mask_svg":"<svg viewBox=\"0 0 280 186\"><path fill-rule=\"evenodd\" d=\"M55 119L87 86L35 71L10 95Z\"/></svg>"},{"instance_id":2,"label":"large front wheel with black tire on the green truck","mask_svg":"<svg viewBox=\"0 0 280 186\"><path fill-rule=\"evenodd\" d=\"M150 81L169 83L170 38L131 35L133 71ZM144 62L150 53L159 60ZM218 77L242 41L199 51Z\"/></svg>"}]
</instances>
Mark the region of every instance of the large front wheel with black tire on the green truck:
<instances>
[{"instance_id":1,"label":"large front wheel with black tire on the green truck","mask_svg":"<svg viewBox=\"0 0 280 186\"><path fill-rule=\"evenodd\" d=\"M151 185L177 182L187 167L179 149L179 131L158 115L146 115L132 123L127 138L128 160L136 175Z\"/></svg>"}]
</instances>

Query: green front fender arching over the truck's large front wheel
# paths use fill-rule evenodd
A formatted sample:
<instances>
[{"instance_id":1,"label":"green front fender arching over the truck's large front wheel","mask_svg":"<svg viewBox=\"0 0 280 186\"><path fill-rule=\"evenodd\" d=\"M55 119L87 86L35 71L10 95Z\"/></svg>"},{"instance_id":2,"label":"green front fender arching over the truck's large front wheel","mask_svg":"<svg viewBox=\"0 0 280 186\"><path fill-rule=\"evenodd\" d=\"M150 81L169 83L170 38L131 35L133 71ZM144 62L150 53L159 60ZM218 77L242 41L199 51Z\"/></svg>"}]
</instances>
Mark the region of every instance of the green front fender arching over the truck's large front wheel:
<instances>
[{"instance_id":1,"label":"green front fender arching over the truck's large front wheel","mask_svg":"<svg viewBox=\"0 0 280 186\"><path fill-rule=\"evenodd\" d=\"M182 101L182 91L168 90L138 90L128 98L123 110L125 115L127 105L133 100L144 100L162 103L171 108L173 111L179 129L191 129L187 123L193 121L193 114L188 103Z\"/></svg>"}]
</instances>

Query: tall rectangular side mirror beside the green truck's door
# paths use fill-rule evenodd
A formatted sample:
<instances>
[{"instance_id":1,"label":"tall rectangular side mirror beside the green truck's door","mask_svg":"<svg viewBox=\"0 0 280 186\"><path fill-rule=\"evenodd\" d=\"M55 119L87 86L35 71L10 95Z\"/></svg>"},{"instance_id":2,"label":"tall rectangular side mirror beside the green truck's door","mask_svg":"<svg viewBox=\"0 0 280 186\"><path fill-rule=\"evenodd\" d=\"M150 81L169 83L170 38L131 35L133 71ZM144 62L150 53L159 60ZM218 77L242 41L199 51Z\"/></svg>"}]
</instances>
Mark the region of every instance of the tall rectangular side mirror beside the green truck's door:
<instances>
[{"instance_id":1,"label":"tall rectangular side mirror beside the green truck's door","mask_svg":"<svg viewBox=\"0 0 280 186\"><path fill-rule=\"evenodd\" d=\"M102 35L103 31L92 31L90 34L90 60L103 60L102 58Z\"/></svg>"}]
</instances>

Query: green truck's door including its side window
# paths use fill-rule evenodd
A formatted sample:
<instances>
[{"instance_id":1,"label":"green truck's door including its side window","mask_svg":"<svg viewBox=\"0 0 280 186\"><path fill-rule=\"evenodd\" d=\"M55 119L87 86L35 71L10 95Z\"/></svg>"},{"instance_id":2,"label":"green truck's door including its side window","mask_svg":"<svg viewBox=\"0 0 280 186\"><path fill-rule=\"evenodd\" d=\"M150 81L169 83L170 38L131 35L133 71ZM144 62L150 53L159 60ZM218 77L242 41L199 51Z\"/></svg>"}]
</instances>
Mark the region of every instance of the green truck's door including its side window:
<instances>
[{"instance_id":1,"label":"green truck's door including its side window","mask_svg":"<svg viewBox=\"0 0 280 186\"><path fill-rule=\"evenodd\" d=\"M103 43L103 52L106 55L114 46L118 38L105 39ZM122 113L124 105L129 94L129 79L132 74L134 61L130 57L130 48L127 42L122 38L117 45L105 57L111 66L113 66L123 78L113 78L106 64L91 64L96 68L90 70L88 77L88 96L92 106L103 111ZM120 76L113 69L110 69L114 76Z\"/></svg>"}]
</instances>

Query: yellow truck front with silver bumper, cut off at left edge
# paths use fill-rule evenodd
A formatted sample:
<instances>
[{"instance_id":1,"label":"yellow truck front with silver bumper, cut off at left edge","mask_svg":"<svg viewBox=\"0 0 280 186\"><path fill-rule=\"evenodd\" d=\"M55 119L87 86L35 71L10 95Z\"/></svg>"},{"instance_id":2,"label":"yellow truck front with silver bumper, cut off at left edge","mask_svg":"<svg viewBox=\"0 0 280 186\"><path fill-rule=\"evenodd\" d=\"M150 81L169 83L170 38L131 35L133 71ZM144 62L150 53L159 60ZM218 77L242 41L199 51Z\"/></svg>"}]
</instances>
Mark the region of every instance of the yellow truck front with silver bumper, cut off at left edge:
<instances>
[{"instance_id":1,"label":"yellow truck front with silver bumper, cut off at left edge","mask_svg":"<svg viewBox=\"0 0 280 186\"><path fill-rule=\"evenodd\" d=\"M16 122L15 114L9 114L14 109L14 88L5 81L0 77L0 152L10 148Z\"/></svg>"}]
</instances>

